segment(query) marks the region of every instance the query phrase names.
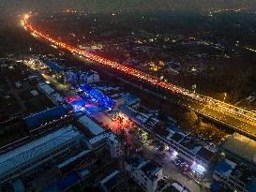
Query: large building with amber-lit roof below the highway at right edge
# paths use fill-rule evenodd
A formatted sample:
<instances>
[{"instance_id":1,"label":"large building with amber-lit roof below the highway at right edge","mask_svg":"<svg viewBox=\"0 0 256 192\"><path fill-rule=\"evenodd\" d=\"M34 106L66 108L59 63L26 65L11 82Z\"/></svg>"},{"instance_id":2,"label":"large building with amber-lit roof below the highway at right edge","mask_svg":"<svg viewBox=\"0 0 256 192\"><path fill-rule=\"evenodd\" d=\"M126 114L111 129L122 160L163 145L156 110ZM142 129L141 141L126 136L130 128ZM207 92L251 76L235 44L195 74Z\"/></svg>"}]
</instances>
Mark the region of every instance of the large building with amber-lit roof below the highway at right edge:
<instances>
[{"instance_id":1,"label":"large building with amber-lit roof below the highway at right edge","mask_svg":"<svg viewBox=\"0 0 256 192\"><path fill-rule=\"evenodd\" d=\"M219 151L229 159L256 171L256 141L234 133L219 146Z\"/></svg>"}]
</instances>

